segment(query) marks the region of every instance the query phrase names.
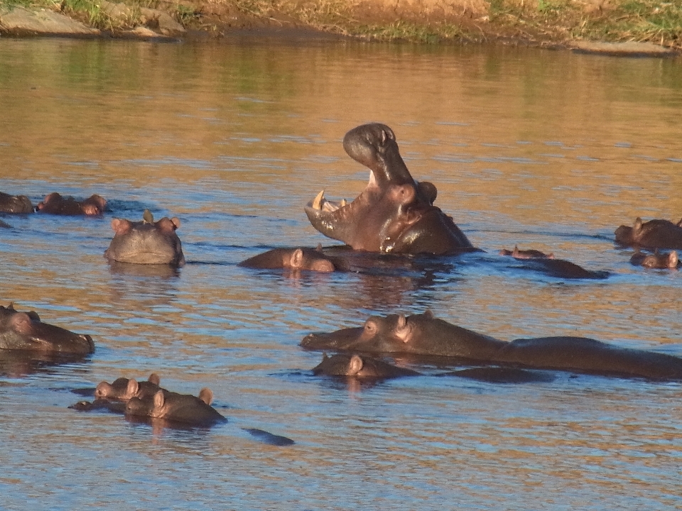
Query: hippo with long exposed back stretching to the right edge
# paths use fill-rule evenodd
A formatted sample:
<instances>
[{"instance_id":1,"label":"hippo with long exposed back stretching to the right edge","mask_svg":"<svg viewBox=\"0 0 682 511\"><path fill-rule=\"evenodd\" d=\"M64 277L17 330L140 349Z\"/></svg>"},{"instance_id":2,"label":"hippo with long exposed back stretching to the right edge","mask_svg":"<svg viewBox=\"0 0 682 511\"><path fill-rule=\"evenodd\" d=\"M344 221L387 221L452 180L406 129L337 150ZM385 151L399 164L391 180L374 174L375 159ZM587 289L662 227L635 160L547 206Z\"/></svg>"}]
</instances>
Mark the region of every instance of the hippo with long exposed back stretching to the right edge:
<instances>
[{"instance_id":1,"label":"hippo with long exposed back stretching to the right edge","mask_svg":"<svg viewBox=\"0 0 682 511\"><path fill-rule=\"evenodd\" d=\"M682 380L682 358L595 339L550 336L502 341L433 317L427 311L405 317L370 317L364 326L309 334L309 349L438 356L487 365L569 370L576 373Z\"/></svg>"}]
</instances>

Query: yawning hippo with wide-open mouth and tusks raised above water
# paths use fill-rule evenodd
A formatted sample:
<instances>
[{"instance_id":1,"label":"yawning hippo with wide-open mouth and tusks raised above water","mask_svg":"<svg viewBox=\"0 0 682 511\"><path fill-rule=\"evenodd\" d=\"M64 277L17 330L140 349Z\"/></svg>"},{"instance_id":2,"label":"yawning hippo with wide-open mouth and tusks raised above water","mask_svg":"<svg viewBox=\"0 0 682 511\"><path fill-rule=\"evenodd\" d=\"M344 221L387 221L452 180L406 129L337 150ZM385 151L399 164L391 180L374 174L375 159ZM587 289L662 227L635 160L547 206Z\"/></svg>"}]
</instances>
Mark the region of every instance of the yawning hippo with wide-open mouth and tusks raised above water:
<instances>
[{"instance_id":1,"label":"yawning hippo with wide-open mouth and tusks raised above water","mask_svg":"<svg viewBox=\"0 0 682 511\"><path fill-rule=\"evenodd\" d=\"M353 128L346 153L369 167L369 183L352 202L325 199L324 190L305 207L313 227L357 251L445 255L476 250L453 219L433 206L437 190L413 180L385 124Z\"/></svg>"}]
</instances>

